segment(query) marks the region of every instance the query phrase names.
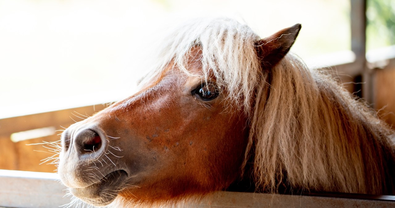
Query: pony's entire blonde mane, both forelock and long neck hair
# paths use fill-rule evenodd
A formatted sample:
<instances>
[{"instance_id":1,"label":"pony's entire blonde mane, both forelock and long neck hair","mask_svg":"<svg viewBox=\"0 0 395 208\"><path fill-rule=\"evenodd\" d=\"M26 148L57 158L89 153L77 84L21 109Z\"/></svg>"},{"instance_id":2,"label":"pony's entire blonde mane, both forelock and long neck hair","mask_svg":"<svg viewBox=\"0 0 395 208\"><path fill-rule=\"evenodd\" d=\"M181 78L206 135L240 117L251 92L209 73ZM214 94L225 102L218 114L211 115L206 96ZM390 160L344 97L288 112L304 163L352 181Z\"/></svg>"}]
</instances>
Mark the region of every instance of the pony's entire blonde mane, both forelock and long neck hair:
<instances>
[{"instance_id":1,"label":"pony's entire blonde mane, both forelock and long neck hair","mask_svg":"<svg viewBox=\"0 0 395 208\"><path fill-rule=\"evenodd\" d=\"M394 131L323 71L292 54L263 70L259 36L231 19L200 19L173 31L143 83L171 61L191 75L188 56L201 47L203 78L214 74L226 99L250 118L242 168L252 163L257 191L394 193Z\"/></svg>"}]
</instances>

